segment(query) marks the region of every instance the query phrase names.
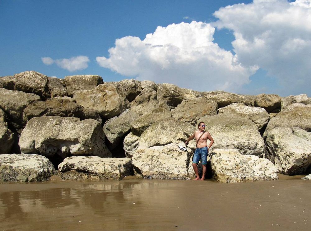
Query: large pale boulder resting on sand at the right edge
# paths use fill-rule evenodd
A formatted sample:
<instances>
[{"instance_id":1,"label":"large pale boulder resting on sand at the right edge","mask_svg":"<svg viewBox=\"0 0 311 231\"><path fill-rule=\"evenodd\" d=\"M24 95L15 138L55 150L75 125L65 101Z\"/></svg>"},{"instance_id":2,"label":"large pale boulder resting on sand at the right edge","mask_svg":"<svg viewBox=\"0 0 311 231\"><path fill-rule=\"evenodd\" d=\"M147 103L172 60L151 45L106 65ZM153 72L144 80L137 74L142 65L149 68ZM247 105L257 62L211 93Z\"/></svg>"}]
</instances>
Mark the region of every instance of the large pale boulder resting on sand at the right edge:
<instances>
[{"instance_id":1,"label":"large pale boulder resting on sand at the right edge","mask_svg":"<svg viewBox=\"0 0 311 231\"><path fill-rule=\"evenodd\" d=\"M267 133L266 158L286 175L305 173L311 165L311 133L298 127L276 127Z\"/></svg>"}]
</instances>

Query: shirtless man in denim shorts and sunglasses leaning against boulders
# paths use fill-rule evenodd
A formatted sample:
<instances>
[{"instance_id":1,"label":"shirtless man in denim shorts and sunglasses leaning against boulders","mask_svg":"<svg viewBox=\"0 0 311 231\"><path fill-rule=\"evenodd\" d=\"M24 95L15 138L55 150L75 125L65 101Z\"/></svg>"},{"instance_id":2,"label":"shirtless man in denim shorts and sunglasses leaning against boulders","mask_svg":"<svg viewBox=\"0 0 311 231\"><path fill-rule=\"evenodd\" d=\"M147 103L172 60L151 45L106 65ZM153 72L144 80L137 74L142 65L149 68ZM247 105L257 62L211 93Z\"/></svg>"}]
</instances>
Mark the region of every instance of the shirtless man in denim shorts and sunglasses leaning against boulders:
<instances>
[{"instance_id":1,"label":"shirtless man in denim shorts and sunglasses leaning against boulders","mask_svg":"<svg viewBox=\"0 0 311 231\"><path fill-rule=\"evenodd\" d=\"M191 141L194 137L196 138L196 140L198 140L200 136L202 135L202 133L204 133L205 127L206 126L204 122L199 122L199 125L198 125L199 130L195 131L193 135L190 136L187 141L185 141L185 144L188 144L189 141ZM211 141L208 147L207 147L207 139ZM192 167L197 176L194 180L204 180L205 173L206 173L206 165L207 165L207 154L208 154L208 150L213 145L213 143L214 143L214 140L211 137L211 134L209 132L205 132L201 136L200 140L198 141L197 148L195 150L193 161L192 161ZM197 170L197 164L199 163L200 159L201 159L201 164L202 164L202 178L201 179L199 178L199 173Z\"/></svg>"}]
</instances>

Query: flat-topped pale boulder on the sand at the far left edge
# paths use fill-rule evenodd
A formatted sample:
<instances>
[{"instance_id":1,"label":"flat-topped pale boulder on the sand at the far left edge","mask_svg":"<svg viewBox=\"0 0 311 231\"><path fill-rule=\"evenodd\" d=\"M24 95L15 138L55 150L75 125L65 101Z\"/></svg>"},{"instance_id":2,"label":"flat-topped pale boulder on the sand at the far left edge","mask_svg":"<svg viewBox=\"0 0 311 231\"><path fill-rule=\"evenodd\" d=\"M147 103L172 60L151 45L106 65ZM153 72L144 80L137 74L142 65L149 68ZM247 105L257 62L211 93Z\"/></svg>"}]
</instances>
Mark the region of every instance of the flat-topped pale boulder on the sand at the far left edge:
<instances>
[{"instance_id":1,"label":"flat-topped pale boulder on the sand at the far left edge","mask_svg":"<svg viewBox=\"0 0 311 231\"><path fill-rule=\"evenodd\" d=\"M0 155L1 181L41 182L55 173L53 164L41 155Z\"/></svg>"}]
</instances>

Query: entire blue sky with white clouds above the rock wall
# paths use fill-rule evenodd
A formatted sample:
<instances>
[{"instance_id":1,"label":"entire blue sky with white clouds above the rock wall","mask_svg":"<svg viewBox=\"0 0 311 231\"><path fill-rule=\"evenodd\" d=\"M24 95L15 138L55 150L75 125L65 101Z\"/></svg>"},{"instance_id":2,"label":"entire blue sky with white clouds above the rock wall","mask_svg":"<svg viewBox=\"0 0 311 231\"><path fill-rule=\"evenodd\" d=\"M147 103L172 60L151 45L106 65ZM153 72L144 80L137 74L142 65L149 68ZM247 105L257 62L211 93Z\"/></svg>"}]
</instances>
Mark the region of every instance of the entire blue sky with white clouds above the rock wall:
<instances>
[{"instance_id":1,"label":"entire blue sky with white clouds above the rock wall","mask_svg":"<svg viewBox=\"0 0 311 231\"><path fill-rule=\"evenodd\" d=\"M310 0L1 0L0 76L310 96L310 15Z\"/></svg>"}]
</instances>

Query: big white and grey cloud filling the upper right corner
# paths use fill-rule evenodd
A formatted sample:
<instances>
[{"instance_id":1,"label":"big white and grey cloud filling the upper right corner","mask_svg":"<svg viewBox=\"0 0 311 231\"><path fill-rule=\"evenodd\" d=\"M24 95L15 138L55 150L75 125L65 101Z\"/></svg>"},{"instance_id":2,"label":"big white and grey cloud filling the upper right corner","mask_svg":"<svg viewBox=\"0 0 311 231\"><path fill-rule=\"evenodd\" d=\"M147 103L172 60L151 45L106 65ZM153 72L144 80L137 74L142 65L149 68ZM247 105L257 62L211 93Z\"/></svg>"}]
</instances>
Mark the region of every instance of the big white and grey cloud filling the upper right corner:
<instances>
[{"instance_id":1,"label":"big white and grey cloud filling the upper right corner","mask_svg":"<svg viewBox=\"0 0 311 231\"><path fill-rule=\"evenodd\" d=\"M233 31L239 62L276 76L283 94L311 85L311 0L254 0L220 8L213 26Z\"/></svg>"}]
</instances>

